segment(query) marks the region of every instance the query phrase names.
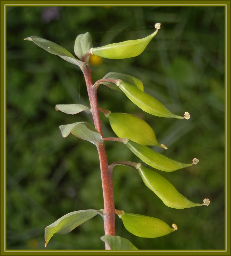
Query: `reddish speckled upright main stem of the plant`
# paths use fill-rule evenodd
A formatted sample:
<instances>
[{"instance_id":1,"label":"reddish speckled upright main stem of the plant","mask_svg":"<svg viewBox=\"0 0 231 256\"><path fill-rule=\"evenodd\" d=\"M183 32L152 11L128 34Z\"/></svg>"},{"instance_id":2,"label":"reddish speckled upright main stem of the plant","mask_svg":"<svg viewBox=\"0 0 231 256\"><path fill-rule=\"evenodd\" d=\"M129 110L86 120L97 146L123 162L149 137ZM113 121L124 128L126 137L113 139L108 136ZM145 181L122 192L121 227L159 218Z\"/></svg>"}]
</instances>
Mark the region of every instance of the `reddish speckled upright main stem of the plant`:
<instances>
[{"instance_id":1,"label":"reddish speckled upright main stem of the plant","mask_svg":"<svg viewBox=\"0 0 231 256\"><path fill-rule=\"evenodd\" d=\"M96 95L97 89L92 87L93 82L91 70L88 66L84 66L82 68L82 71L86 81L87 92L90 100L91 112L94 119L95 129L97 129L103 137ZM105 235L115 236L115 203L112 182L112 171L109 170L104 142L97 145L97 150L100 158L101 179L104 198L104 231ZM107 244L106 249L110 249Z\"/></svg>"}]
</instances>

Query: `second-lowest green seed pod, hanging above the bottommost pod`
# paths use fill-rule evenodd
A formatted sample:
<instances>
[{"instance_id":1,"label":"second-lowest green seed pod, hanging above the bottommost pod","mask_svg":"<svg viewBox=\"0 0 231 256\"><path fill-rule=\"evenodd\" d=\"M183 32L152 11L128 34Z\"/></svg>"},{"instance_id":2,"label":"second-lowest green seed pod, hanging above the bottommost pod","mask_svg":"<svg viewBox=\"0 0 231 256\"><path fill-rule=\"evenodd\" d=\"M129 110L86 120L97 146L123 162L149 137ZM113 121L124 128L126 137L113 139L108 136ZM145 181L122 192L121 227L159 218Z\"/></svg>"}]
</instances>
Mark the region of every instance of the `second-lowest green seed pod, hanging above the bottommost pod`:
<instances>
[{"instance_id":1,"label":"second-lowest green seed pod, hanging above the bottommost pod","mask_svg":"<svg viewBox=\"0 0 231 256\"><path fill-rule=\"evenodd\" d=\"M159 173L142 165L138 172L145 185L151 189L168 207L184 209L203 205L194 203L181 195L175 187Z\"/></svg>"}]
</instances>

